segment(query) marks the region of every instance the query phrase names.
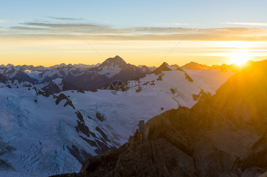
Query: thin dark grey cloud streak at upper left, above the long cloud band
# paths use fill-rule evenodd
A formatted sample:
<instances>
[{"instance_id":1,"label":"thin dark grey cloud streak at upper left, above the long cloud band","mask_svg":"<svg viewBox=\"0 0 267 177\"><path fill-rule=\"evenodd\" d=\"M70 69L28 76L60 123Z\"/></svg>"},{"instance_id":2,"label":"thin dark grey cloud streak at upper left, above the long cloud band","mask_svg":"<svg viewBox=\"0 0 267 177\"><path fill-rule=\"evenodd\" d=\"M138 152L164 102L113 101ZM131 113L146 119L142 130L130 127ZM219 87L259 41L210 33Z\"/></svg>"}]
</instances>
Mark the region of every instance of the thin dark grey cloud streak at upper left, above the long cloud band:
<instances>
[{"instance_id":1,"label":"thin dark grey cloud streak at upper left, above the long cloud band","mask_svg":"<svg viewBox=\"0 0 267 177\"><path fill-rule=\"evenodd\" d=\"M45 27L83 27L83 28L99 27L99 26L93 25L93 24L71 24L71 23L60 24L60 23L24 22L24 23L19 23L19 24L33 25L33 26L45 26Z\"/></svg>"}]
</instances>

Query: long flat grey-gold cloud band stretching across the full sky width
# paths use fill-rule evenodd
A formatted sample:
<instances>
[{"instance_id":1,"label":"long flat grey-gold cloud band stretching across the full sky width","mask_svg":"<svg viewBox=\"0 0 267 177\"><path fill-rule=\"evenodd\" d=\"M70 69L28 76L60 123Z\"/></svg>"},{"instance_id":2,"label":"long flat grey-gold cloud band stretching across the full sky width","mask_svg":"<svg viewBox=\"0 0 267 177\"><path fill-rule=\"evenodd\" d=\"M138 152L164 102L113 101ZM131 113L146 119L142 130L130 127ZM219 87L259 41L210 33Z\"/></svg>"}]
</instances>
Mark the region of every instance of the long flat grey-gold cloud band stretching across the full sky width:
<instances>
[{"instance_id":1,"label":"long flat grey-gold cloud band stretching across the full sky width","mask_svg":"<svg viewBox=\"0 0 267 177\"><path fill-rule=\"evenodd\" d=\"M267 33L266 33L267 34ZM186 34L81 34L88 41L180 41ZM81 40L79 34L5 34L2 41L9 40ZM267 41L267 35L237 34L188 34L190 41Z\"/></svg>"}]
</instances>

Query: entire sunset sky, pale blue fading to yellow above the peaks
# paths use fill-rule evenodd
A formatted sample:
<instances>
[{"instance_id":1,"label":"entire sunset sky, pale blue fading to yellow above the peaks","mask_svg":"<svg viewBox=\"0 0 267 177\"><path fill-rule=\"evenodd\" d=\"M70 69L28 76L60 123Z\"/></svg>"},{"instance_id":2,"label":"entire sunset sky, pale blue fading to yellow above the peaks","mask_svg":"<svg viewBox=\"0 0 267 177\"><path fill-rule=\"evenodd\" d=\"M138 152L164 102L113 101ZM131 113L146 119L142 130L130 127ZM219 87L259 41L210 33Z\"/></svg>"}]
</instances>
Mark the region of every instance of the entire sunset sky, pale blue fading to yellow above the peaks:
<instances>
[{"instance_id":1,"label":"entire sunset sky, pale blue fading to yellow above the peaks","mask_svg":"<svg viewBox=\"0 0 267 177\"><path fill-rule=\"evenodd\" d=\"M2 1L0 65L266 59L267 1ZM239 57L239 58L238 58Z\"/></svg>"}]
</instances>

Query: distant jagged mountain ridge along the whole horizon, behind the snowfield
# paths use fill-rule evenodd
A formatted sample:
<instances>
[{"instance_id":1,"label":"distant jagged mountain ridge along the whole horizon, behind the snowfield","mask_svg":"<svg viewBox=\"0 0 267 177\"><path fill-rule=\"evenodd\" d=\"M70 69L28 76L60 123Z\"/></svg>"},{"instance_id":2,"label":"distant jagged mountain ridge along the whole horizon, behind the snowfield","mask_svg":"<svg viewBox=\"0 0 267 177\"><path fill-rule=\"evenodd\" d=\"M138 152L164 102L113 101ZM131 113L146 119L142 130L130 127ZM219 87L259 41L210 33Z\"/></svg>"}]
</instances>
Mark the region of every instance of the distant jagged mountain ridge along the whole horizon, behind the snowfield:
<instances>
[{"instance_id":1,"label":"distant jagged mountain ridge along the whole horizon, behind the snowfield","mask_svg":"<svg viewBox=\"0 0 267 177\"><path fill-rule=\"evenodd\" d=\"M121 80L123 82L141 77L149 73L159 73L166 70L174 70L176 68L184 70L209 70L211 68L219 68L221 72L227 72L231 70L237 72L247 65L251 65L254 61L247 61L244 65L212 65L206 66L196 62L190 62L186 65L179 67L179 65L164 65L159 68L147 67L145 65L131 65L127 64L121 57L110 57L103 61L101 64L96 65L84 65L84 64L68 64L61 63L60 65L54 65L51 67L36 66L33 65L18 65L14 66L8 64L7 66L0 66L0 74L6 78L21 79L22 81L29 82L31 85L42 85L39 89L44 88L45 91L50 93L56 93L62 91L55 85L52 80L57 78L63 79L66 85L70 85L72 89L83 88L84 90L93 90L98 87L109 84L114 80ZM75 67L76 66L76 67ZM45 83L50 83L44 85ZM14 86L11 86L12 88ZM61 88L61 87L60 87ZM105 88L105 87L104 87ZM49 91L51 89L51 91Z\"/></svg>"}]
</instances>

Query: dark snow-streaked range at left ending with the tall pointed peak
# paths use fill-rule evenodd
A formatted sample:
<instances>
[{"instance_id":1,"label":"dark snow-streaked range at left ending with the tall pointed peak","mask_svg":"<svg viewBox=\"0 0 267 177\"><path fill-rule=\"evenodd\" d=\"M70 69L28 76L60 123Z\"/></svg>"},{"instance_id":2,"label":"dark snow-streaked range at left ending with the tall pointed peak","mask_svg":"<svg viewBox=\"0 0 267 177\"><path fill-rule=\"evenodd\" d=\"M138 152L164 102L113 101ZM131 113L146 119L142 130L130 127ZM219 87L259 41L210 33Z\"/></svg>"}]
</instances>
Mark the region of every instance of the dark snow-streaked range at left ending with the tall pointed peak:
<instances>
[{"instance_id":1,"label":"dark snow-streaked range at left ending with the tall pointed peak","mask_svg":"<svg viewBox=\"0 0 267 177\"><path fill-rule=\"evenodd\" d=\"M11 64L7 66L0 68L0 74L3 74L7 78L16 77L33 84L43 84L44 86L48 84L47 82L60 78L73 84L77 88L88 90L111 83L114 80L127 81L151 72L146 66L138 68L135 65L127 64L119 56L108 58L102 64L78 64L75 65L77 67L64 63L51 67L34 67L33 65L13 66ZM48 89L51 88L53 91L50 93L58 91L57 86L52 85L54 84L51 82L49 86L46 86L45 90L48 91Z\"/></svg>"}]
</instances>

